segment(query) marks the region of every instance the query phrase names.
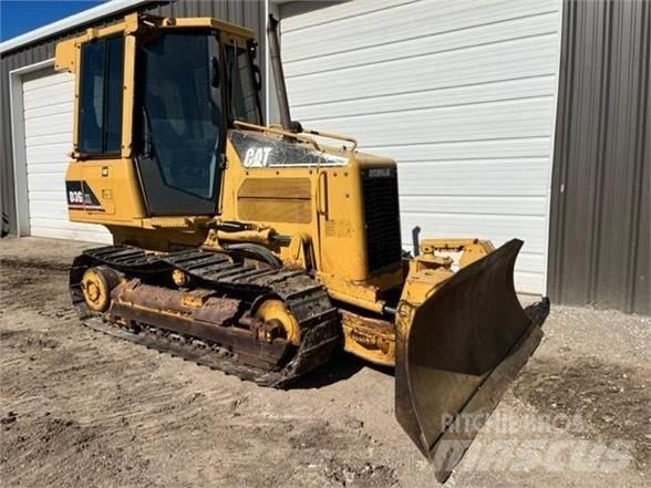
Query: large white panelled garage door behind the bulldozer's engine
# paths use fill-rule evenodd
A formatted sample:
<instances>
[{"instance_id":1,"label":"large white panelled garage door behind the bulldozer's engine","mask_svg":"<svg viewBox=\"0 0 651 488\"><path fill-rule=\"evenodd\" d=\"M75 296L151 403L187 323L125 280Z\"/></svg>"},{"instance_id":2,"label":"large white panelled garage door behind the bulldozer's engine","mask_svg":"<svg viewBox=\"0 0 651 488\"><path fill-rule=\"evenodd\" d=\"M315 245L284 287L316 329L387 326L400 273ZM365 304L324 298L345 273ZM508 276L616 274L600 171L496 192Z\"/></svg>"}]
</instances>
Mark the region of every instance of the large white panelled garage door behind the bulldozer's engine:
<instances>
[{"instance_id":1,"label":"large white panelled garage door behind the bulldozer's engine","mask_svg":"<svg viewBox=\"0 0 651 488\"><path fill-rule=\"evenodd\" d=\"M281 6L292 117L397 160L402 240L526 241L516 287L546 287L559 0Z\"/></svg>"}]
</instances>

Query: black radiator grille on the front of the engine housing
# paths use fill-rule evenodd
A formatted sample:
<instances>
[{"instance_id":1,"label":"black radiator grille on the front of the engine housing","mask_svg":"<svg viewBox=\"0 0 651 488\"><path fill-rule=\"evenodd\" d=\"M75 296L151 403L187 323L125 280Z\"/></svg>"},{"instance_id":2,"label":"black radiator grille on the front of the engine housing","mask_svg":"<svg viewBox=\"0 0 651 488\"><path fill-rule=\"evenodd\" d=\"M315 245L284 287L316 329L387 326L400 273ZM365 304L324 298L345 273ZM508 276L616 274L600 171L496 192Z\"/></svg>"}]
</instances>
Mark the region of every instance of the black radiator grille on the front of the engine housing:
<instances>
[{"instance_id":1,"label":"black radiator grille on the front of the engine housing","mask_svg":"<svg viewBox=\"0 0 651 488\"><path fill-rule=\"evenodd\" d=\"M395 168L362 169L369 272L400 263L402 243Z\"/></svg>"}]
</instances>

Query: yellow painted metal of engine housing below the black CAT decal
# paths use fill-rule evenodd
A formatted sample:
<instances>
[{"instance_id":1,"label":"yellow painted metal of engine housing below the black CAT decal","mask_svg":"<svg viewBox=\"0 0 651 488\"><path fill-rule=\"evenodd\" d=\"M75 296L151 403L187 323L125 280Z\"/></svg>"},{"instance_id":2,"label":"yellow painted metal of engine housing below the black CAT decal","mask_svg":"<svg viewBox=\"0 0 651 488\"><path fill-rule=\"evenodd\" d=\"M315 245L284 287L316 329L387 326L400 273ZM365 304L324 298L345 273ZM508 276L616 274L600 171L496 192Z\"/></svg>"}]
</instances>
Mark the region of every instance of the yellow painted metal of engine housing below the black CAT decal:
<instances>
[{"instance_id":1,"label":"yellow painted metal of engine housing below the black CAT decal","mask_svg":"<svg viewBox=\"0 0 651 488\"><path fill-rule=\"evenodd\" d=\"M296 144L311 146L308 142ZM271 227L283 236L310 236L316 267L324 277L368 281L372 277L365 255L361 172L365 167L395 167L395 162L343 149L329 150L329 154L344 157L348 163L338 167L247 168L228 144L219 218L251 222L249 200L255 199L257 215L267 218L252 224ZM283 187L293 190L282 191ZM252 188L256 188L254 193ZM342 249L345 252L341 252ZM289 245L276 246L272 250L282 261L294 259L294 250ZM401 281L401 277L395 277L394 287Z\"/></svg>"}]
</instances>

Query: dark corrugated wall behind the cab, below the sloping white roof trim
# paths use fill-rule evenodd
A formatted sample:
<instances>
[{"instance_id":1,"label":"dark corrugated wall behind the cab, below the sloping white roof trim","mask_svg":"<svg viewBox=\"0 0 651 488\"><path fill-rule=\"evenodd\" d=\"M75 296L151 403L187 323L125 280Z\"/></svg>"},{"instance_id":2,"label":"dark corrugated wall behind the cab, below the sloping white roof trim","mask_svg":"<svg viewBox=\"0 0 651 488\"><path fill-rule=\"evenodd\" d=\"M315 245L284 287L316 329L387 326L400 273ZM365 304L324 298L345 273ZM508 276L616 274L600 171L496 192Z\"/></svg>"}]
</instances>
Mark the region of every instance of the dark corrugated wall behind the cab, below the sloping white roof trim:
<instances>
[{"instance_id":1,"label":"dark corrugated wall behind the cab, below the sloping white roof trim","mask_svg":"<svg viewBox=\"0 0 651 488\"><path fill-rule=\"evenodd\" d=\"M264 0L173 0L154 1L137 9L162 17L214 17L232 23L246 25L256 31L261 48L257 62L260 72L265 73L265 1ZM103 19L100 24L106 24L120 19L124 12L112 18ZM2 126L0 128L0 211L9 217L10 233L16 233L16 195L13 188L13 160L11 143L11 113L9 104L9 72L18 68L45 61L54 56L54 45L58 41L74 37L89 25L74 31L62 33L55 38L27 45L16 51L2 53L0 60L0 112ZM265 93L261 93L264 98ZM262 106L265 100L261 100Z\"/></svg>"}]
</instances>

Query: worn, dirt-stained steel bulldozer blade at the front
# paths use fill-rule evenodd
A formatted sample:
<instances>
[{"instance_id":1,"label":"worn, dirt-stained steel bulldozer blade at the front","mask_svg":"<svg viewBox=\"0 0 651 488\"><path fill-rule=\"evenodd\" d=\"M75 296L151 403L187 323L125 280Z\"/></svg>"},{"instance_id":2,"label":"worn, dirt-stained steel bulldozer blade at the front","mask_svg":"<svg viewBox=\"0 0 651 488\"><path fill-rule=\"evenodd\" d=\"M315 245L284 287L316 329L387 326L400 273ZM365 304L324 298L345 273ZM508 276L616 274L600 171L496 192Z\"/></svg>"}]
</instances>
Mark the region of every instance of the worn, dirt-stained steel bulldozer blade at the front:
<instances>
[{"instance_id":1,"label":"worn, dirt-stained steel bulldozer blade at the front","mask_svg":"<svg viewBox=\"0 0 651 488\"><path fill-rule=\"evenodd\" d=\"M441 482L542 338L548 301L529 318L514 288L521 246L514 239L420 305L399 307L395 415Z\"/></svg>"}]
</instances>

